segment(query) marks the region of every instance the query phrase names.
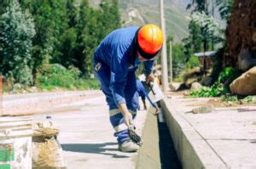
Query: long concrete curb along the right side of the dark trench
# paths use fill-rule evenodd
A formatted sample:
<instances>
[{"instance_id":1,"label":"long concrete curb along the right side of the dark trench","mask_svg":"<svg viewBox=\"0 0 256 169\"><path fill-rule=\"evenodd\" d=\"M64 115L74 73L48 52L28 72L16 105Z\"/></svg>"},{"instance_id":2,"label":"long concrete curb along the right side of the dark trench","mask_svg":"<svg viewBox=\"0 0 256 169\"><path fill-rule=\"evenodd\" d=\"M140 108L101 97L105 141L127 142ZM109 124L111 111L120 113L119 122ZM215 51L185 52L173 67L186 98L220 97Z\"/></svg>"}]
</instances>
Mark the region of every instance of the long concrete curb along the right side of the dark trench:
<instances>
[{"instance_id":1,"label":"long concrete curb along the right side of the dark trench","mask_svg":"<svg viewBox=\"0 0 256 169\"><path fill-rule=\"evenodd\" d=\"M161 100L166 125L172 136L178 159L184 169L227 168L206 140L176 110L172 101Z\"/></svg>"}]
</instances>

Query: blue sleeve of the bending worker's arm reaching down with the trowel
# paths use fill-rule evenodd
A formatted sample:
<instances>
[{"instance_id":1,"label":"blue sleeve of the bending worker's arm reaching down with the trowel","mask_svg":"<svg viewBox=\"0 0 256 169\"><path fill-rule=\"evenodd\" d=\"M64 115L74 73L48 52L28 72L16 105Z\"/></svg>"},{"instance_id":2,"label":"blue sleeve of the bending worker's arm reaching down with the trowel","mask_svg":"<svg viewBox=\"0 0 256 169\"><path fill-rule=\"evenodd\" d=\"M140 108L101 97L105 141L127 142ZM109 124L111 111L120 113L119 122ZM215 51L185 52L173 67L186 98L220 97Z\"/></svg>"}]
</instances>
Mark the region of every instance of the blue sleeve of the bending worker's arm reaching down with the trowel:
<instances>
[{"instance_id":1,"label":"blue sleeve of the bending worker's arm reaching down with the trowel","mask_svg":"<svg viewBox=\"0 0 256 169\"><path fill-rule=\"evenodd\" d=\"M115 104L125 104L124 89L127 80L129 60L125 59L123 50L117 49L111 59L111 76L109 88L112 91Z\"/></svg>"}]
</instances>

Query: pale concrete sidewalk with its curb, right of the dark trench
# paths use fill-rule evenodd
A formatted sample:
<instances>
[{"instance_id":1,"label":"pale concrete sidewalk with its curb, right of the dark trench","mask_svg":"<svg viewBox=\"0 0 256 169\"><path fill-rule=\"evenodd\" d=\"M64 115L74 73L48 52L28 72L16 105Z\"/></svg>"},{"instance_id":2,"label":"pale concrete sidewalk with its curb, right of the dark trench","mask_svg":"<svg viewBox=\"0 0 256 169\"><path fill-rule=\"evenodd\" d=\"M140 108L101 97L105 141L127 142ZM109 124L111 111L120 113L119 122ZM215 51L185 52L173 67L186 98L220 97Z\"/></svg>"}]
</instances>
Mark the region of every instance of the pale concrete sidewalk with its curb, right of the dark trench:
<instances>
[{"instance_id":1,"label":"pale concrete sidewalk with its curb, right of the dark trench","mask_svg":"<svg viewBox=\"0 0 256 169\"><path fill-rule=\"evenodd\" d=\"M256 168L256 107L190 112L207 101L172 95L161 102L183 168Z\"/></svg>"}]
</instances>

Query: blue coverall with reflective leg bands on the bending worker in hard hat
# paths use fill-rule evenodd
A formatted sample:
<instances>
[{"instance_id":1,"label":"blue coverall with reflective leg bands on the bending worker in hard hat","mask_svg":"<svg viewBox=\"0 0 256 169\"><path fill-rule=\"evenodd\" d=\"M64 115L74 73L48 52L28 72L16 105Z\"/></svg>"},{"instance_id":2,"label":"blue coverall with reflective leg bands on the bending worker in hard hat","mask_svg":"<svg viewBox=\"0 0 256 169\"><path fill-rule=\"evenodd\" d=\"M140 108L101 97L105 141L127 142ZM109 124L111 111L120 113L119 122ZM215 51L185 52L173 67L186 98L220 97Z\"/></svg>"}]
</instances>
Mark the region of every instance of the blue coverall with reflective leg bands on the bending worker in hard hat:
<instances>
[{"instance_id":1,"label":"blue coverall with reflective leg bands on the bending worker in hard hat","mask_svg":"<svg viewBox=\"0 0 256 169\"><path fill-rule=\"evenodd\" d=\"M125 27L108 34L96 48L93 59L95 75L106 95L110 122L119 144L130 138L118 105L125 103L133 118L139 108L135 75L140 64L136 48L138 29ZM153 66L152 60L144 62L144 73L150 74Z\"/></svg>"}]
</instances>

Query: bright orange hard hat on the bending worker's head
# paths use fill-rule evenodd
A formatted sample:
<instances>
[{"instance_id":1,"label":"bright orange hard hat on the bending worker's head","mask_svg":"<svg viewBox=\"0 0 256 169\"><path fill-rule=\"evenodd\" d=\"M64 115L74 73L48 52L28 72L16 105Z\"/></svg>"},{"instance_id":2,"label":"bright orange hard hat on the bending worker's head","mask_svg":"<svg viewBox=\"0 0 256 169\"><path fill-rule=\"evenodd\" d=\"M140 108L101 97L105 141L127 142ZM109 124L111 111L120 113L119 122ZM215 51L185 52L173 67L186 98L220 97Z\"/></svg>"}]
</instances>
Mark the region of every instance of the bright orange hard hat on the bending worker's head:
<instances>
[{"instance_id":1,"label":"bright orange hard hat on the bending worker's head","mask_svg":"<svg viewBox=\"0 0 256 169\"><path fill-rule=\"evenodd\" d=\"M142 56L147 54L146 59L153 58L162 48L164 35L157 25L144 25L137 32L137 42L140 54L143 53Z\"/></svg>"}]
</instances>

